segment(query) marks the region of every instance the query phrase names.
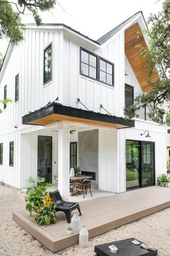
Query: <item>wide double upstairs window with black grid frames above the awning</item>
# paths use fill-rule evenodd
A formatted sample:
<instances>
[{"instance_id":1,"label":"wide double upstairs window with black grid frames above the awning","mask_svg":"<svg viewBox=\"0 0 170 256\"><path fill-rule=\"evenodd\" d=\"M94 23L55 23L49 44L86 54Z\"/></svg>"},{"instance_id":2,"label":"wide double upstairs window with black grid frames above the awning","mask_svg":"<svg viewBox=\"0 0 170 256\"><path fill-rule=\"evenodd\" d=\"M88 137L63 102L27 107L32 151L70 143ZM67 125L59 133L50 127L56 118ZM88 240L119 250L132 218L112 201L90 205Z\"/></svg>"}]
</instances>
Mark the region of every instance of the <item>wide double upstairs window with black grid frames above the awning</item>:
<instances>
[{"instance_id":1,"label":"wide double upstairs window with black grid frames above the awning","mask_svg":"<svg viewBox=\"0 0 170 256\"><path fill-rule=\"evenodd\" d=\"M107 85L114 85L114 64L81 48L80 74Z\"/></svg>"}]
</instances>

